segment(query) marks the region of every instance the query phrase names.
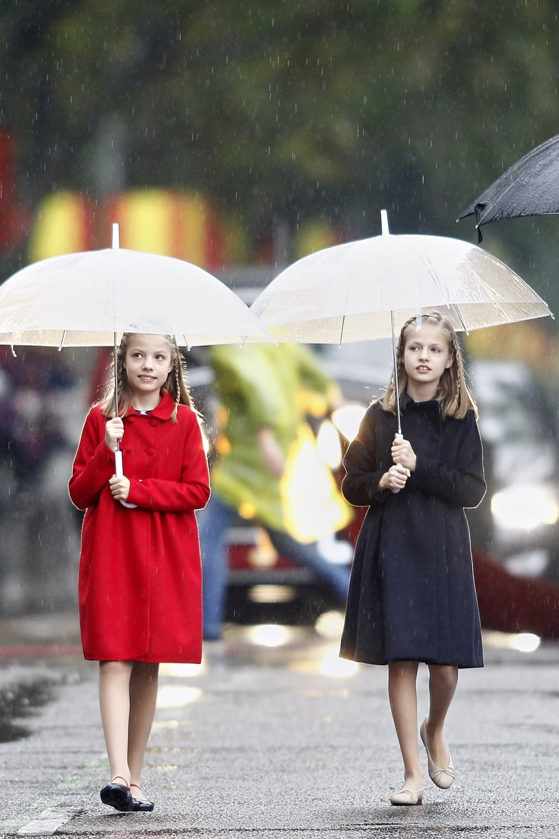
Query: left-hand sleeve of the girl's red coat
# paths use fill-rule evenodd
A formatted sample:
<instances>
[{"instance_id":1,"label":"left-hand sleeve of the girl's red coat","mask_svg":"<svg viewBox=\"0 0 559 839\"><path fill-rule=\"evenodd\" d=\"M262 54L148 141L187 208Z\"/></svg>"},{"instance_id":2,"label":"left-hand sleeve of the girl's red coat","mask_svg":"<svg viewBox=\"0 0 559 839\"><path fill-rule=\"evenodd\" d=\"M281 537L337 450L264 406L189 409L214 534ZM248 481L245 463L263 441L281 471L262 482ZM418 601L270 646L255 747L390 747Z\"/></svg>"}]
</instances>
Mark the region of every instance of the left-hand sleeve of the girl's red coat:
<instances>
[{"instance_id":1,"label":"left-hand sleeve of the girl's red coat","mask_svg":"<svg viewBox=\"0 0 559 839\"><path fill-rule=\"evenodd\" d=\"M68 485L72 503L80 510L97 502L101 489L115 474L115 456L106 446L105 424L99 409L91 409L85 417Z\"/></svg>"}]
</instances>

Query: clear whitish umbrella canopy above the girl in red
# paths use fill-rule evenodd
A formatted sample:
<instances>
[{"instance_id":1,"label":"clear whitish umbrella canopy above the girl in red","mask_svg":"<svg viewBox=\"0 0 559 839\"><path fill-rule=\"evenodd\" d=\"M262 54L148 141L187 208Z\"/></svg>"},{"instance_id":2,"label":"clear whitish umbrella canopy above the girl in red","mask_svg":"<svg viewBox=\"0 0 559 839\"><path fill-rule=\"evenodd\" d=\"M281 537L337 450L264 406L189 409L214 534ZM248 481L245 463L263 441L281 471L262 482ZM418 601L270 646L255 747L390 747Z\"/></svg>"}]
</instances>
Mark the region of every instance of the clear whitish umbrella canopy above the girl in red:
<instances>
[{"instance_id":1,"label":"clear whitish umbrella canopy above the girl in red","mask_svg":"<svg viewBox=\"0 0 559 839\"><path fill-rule=\"evenodd\" d=\"M44 259L0 286L2 344L106 347L123 332L173 335L184 347L271 340L213 274L121 249L117 230L112 248Z\"/></svg>"}]
</instances>

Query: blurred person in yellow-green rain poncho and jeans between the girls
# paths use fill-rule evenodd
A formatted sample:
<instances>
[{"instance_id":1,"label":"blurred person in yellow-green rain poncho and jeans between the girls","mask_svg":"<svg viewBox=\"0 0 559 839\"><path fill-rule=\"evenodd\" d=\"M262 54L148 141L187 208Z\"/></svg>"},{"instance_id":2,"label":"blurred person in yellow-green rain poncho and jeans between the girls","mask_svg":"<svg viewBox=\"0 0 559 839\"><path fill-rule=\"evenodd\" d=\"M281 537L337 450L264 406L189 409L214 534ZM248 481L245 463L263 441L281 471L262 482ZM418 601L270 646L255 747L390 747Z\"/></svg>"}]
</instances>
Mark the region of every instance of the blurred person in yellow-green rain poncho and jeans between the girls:
<instances>
[{"instance_id":1,"label":"blurred person in yellow-green rain poncho and jeans between the girls","mask_svg":"<svg viewBox=\"0 0 559 839\"><path fill-rule=\"evenodd\" d=\"M226 531L242 519L266 529L278 555L311 569L344 605L349 566L326 555L328 537L352 513L311 430L340 393L307 347L209 347L216 414L212 494L198 513L204 571L204 639L221 638L228 560ZM323 537L323 539L321 539ZM344 543L331 540L329 550Z\"/></svg>"}]
</instances>

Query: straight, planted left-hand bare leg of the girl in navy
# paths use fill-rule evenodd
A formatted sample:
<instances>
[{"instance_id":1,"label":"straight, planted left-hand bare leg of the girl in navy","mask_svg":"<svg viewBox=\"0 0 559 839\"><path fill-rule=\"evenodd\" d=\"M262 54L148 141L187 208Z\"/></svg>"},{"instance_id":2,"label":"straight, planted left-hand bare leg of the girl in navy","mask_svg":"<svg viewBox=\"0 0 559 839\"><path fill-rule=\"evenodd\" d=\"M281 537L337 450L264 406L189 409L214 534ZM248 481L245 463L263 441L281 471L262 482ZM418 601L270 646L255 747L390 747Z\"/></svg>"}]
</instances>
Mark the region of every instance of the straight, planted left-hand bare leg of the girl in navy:
<instances>
[{"instance_id":1,"label":"straight, planted left-hand bare leg of the girl in navy","mask_svg":"<svg viewBox=\"0 0 559 839\"><path fill-rule=\"evenodd\" d=\"M416 681L417 661L391 661L388 664L388 697L404 761L404 786L413 791L423 787L417 743Z\"/></svg>"}]
</instances>

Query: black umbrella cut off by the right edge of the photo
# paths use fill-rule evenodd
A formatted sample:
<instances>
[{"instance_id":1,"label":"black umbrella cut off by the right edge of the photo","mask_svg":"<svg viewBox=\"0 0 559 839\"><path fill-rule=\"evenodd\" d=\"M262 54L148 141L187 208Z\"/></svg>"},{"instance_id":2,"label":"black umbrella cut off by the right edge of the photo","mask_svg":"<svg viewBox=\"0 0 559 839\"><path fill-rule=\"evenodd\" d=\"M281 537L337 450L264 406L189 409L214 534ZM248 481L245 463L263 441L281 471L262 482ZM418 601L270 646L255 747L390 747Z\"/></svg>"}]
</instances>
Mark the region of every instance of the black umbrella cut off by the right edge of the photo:
<instances>
[{"instance_id":1,"label":"black umbrella cut off by the right edge of the photo","mask_svg":"<svg viewBox=\"0 0 559 839\"><path fill-rule=\"evenodd\" d=\"M480 227L489 221L559 212L559 134L517 160L476 198L457 221L475 215Z\"/></svg>"}]
</instances>

